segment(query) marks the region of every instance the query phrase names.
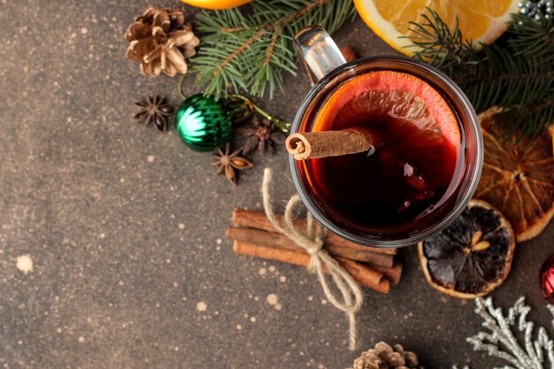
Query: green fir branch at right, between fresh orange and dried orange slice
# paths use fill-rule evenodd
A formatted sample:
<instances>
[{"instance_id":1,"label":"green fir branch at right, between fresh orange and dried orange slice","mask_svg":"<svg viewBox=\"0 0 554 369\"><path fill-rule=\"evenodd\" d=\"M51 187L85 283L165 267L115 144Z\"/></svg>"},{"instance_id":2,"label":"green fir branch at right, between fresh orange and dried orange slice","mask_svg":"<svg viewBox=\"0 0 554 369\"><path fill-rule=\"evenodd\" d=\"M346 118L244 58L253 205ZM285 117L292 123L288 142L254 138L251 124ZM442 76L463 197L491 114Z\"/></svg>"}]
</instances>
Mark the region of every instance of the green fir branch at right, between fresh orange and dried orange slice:
<instances>
[{"instance_id":1,"label":"green fir branch at right, between fresh orange and dried orange slice","mask_svg":"<svg viewBox=\"0 0 554 369\"><path fill-rule=\"evenodd\" d=\"M414 57L426 61L464 90L478 113L503 108L507 135L535 137L554 121L554 26L512 15L506 36L481 50L427 8L412 23Z\"/></svg>"}]
</instances>

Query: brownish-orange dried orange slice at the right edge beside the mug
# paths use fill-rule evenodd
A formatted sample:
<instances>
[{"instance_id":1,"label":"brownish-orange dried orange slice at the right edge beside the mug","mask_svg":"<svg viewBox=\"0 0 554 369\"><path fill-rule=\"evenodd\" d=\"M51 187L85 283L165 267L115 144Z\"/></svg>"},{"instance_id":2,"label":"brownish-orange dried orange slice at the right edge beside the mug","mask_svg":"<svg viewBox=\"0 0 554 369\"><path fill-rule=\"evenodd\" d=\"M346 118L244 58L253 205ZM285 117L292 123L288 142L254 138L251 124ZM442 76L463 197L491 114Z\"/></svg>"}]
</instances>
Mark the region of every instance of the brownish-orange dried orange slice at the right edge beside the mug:
<instances>
[{"instance_id":1,"label":"brownish-orange dried orange slice at the right edge beside the mug","mask_svg":"<svg viewBox=\"0 0 554 369\"><path fill-rule=\"evenodd\" d=\"M474 197L502 211L523 242L540 234L554 216L552 127L532 142L506 141L495 124L497 112L491 108L479 115L485 159Z\"/></svg>"}]
</instances>

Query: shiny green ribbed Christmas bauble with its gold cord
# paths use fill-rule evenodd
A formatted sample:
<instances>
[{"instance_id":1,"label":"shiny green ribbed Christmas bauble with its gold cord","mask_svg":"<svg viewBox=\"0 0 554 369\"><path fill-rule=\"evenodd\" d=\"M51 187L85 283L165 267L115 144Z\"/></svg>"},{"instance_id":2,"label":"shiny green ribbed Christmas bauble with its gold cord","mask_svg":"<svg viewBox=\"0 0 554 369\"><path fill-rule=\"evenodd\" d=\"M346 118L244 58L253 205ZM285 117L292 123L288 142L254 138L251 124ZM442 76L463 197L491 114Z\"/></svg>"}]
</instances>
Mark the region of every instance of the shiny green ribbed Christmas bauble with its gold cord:
<instances>
[{"instance_id":1,"label":"shiny green ribbed Christmas bauble with its gold cord","mask_svg":"<svg viewBox=\"0 0 554 369\"><path fill-rule=\"evenodd\" d=\"M227 100L216 100L202 94L190 96L181 103L175 114L175 127L190 149L213 151L229 141L233 124L248 118L253 111L273 120L284 132L290 127L289 123L261 111L244 96L231 95Z\"/></svg>"}]
</instances>

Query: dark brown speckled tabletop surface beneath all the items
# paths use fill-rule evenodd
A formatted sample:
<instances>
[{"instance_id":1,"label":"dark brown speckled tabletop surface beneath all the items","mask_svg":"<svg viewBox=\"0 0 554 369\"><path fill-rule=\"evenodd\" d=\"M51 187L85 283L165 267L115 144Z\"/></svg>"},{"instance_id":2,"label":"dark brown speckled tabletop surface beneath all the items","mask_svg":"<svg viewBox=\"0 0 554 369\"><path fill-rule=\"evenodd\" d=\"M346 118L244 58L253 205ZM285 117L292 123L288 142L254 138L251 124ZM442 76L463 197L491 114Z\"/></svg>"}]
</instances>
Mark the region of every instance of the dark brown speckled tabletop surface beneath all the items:
<instances>
[{"instance_id":1,"label":"dark brown speckled tabletop surface beneath all the items","mask_svg":"<svg viewBox=\"0 0 554 369\"><path fill-rule=\"evenodd\" d=\"M0 366L349 366L358 352L346 350L346 319L322 303L314 276L236 256L224 238L234 206L260 208L266 165L282 173L275 196L292 194L284 152L255 156L231 188L174 131L130 122L135 99L179 101L177 79L146 78L124 58L123 33L145 5L0 1ZM364 56L392 52L359 19L336 40ZM292 119L308 88L304 76L287 78L285 93L262 105ZM551 317L537 274L553 239L550 225L520 245L494 293L504 307L527 296L542 325ZM24 255L29 273L16 267ZM473 303L430 288L415 249L401 258L398 288L365 292L362 346L402 343L427 368L504 364L466 343L481 327Z\"/></svg>"}]
</instances>

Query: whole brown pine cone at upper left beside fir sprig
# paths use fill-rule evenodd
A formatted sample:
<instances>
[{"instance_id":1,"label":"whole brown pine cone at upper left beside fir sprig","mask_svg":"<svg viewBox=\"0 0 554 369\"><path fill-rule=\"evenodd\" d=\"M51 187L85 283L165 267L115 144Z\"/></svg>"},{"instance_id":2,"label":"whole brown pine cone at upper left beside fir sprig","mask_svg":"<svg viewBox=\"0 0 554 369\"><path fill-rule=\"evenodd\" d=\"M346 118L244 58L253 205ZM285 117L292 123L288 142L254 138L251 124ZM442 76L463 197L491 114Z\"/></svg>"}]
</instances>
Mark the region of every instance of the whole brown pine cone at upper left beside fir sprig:
<instances>
[{"instance_id":1,"label":"whole brown pine cone at upper left beside fir sprig","mask_svg":"<svg viewBox=\"0 0 554 369\"><path fill-rule=\"evenodd\" d=\"M143 74L169 76L187 73L185 58L196 54L198 37L178 10L150 6L127 28L127 58L140 61Z\"/></svg>"}]
</instances>

